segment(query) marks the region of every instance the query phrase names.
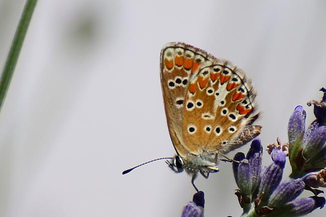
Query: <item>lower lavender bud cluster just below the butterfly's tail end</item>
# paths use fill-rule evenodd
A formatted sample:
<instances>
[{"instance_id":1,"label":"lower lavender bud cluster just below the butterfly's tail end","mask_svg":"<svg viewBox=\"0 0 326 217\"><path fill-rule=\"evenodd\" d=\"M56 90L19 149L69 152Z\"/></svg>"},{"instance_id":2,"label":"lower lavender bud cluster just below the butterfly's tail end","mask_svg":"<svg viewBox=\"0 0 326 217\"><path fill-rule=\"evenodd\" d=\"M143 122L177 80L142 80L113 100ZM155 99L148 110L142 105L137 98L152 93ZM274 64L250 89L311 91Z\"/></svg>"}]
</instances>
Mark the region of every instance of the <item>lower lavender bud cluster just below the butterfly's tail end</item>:
<instances>
[{"instance_id":1,"label":"lower lavender bud cluster just below the butterfly's tail end","mask_svg":"<svg viewBox=\"0 0 326 217\"><path fill-rule=\"evenodd\" d=\"M303 113L301 110L300 114ZM306 187L305 182L323 182L326 171L322 174L310 174L305 179L290 178L281 183L287 150L280 147L278 145L269 150L273 162L266 169L261 166L262 146L259 139L253 140L246 158L241 152L235 155L233 171L239 187L235 194L243 208L242 216L300 216L325 204L323 197L296 198ZM291 147L294 146L290 146L289 151Z\"/></svg>"}]
</instances>

